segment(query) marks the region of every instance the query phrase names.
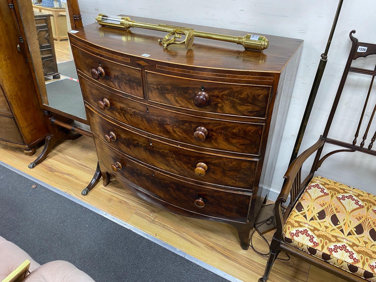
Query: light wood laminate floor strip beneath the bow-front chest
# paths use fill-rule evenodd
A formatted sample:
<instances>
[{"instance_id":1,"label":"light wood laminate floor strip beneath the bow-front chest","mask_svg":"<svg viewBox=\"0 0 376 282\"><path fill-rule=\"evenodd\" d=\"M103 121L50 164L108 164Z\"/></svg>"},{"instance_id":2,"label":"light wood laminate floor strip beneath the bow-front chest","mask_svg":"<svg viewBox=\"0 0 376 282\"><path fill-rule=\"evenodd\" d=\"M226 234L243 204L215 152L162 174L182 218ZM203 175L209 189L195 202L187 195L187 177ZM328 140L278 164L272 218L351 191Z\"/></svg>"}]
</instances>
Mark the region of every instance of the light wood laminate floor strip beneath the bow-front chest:
<instances>
[{"instance_id":1,"label":"light wood laminate floor strip beneath the bow-front chest","mask_svg":"<svg viewBox=\"0 0 376 282\"><path fill-rule=\"evenodd\" d=\"M72 196L123 220L144 232L159 238L187 254L200 259L240 280L257 281L264 272L266 259L252 249L240 247L234 227L206 220L182 217L156 208L112 181L106 187L100 182L87 196L81 191L91 180L97 164L97 155L91 138L82 136L61 141L48 158L33 169L27 165L41 152L27 156L20 149L0 145L0 161L42 180ZM273 232L266 235L271 239ZM253 245L267 253L265 242L256 234ZM286 257L281 253L281 257ZM274 263L270 282L320 282L340 280L306 262L292 257L290 261ZM324 280L322 280L323 278Z\"/></svg>"}]
</instances>

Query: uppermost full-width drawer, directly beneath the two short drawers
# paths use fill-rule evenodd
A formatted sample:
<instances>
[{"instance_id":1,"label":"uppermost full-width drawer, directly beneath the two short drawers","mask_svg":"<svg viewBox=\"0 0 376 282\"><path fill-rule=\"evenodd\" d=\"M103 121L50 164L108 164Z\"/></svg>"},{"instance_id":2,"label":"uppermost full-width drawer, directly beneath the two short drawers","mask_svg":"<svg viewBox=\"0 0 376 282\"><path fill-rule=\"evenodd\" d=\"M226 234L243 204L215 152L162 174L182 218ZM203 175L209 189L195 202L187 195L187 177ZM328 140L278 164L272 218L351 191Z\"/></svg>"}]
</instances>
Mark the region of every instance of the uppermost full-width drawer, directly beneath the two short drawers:
<instances>
[{"instance_id":1,"label":"uppermost full-width drawer, directly beneath the two short drawers","mask_svg":"<svg viewBox=\"0 0 376 282\"><path fill-rule=\"evenodd\" d=\"M98 101L108 99L109 108L104 108L101 112L120 123L197 149L255 156L260 153L264 123L218 120L169 111L124 98L82 76L79 79L86 103L100 111ZM199 132L200 129L197 130L199 127L206 130L206 136ZM197 132L201 134L199 138L203 141L195 139Z\"/></svg>"}]
</instances>

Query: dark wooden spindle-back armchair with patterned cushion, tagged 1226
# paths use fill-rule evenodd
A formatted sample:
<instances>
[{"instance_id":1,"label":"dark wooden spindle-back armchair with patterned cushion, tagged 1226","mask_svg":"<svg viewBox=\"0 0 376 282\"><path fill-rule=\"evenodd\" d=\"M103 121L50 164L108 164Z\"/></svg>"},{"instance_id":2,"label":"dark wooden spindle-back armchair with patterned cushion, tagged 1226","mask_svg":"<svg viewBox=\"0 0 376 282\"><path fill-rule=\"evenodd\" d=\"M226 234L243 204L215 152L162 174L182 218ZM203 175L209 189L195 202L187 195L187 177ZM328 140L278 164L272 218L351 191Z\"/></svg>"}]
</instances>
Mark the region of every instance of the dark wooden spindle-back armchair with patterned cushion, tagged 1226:
<instances>
[{"instance_id":1,"label":"dark wooden spindle-back armchair with patterned cushion, tagged 1226","mask_svg":"<svg viewBox=\"0 0 376 282\"><path fill-rule=\"evenodd\" d=\"M376 67L374 71L351 67L354 60L376 54L376 44L358 42L353 33L355 30L350 32L352 48L324 133L312 147L295 159L284 176L285 183L274 207L277 229L270 244L265 273L259 282L268 280L271 267L281 251L347 281L376 281L376 196L314 176L323 161L338 152L358 151L376 156L376 151L372 150L376 132L368 148L364 147L376 105L360 146L356 144ZM372 76L352 144L327 137L349 72ZM342 148L321 157L325 143ZM315 152L311 171L302 182L302 165ZM287 202L289 196L290 202L283 214L282 204Z\"/></svg>"}]
</instances>

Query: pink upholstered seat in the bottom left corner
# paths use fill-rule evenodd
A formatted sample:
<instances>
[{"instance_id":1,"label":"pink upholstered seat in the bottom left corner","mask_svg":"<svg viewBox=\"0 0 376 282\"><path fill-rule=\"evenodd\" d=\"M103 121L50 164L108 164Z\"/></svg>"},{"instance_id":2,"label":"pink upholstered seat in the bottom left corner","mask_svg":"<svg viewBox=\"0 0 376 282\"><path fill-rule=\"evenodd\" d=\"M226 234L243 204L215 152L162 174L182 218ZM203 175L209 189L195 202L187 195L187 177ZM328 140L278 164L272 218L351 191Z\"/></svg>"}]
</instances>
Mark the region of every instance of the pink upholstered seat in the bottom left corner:
<instances>
[{"instance_id":1,"label":"pink upholstered seat in the bottom left corner","mask_svg":"<svg viewBox=\"0 0 376 282\"><path fill-rule=\"evenodd\" d=\"M20 247L0 237L0 281L26 259L30 261L30 274L23 282L94 282L88 274L67 261L39 265Z\"/></svg>"}]
</instances>

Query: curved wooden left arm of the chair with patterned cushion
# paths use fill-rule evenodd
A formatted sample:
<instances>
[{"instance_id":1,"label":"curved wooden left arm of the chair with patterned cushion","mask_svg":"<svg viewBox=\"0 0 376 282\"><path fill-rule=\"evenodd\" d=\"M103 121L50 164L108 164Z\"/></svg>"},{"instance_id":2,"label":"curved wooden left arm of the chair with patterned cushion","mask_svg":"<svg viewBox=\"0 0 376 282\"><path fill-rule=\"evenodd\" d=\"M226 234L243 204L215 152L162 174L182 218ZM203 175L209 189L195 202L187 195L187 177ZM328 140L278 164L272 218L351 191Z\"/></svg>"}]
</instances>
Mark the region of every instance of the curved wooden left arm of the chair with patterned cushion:
<instances>
[{"instance_id":1,"label":"curved wooden left arm of the chair with patterned cushion","mask_svg":"<svg viewBox=\"0 0 376 282\"><path fill-rule=\"evenodd\" d=\"M299 196L300 191L304 188L304 185L301 183L300 174L302 171L302 166L304 162L311 156L314 152L316 152L318 149L320 149L325 143L325 139L320 137L318 141L309 147L307 150L305 150L302 154L300 154L288 167L284 179L285 184L282 187L282 190L279 193L279 196L276 200L275 206L274 206L274 212L276 215L276 223L277 223L277 230L274 235L274 237L278 240L282 240L282 232L284 227L284 217L282 214L282 203L286 203L288 196L291 196L290 198L290 205L291 203L294 203L297 196ZM305 184L305 183L303 183ZM289 205L289 206L290 206ZM289 210L287 210L289 212Z\"/></svg>"}]
</instances>

